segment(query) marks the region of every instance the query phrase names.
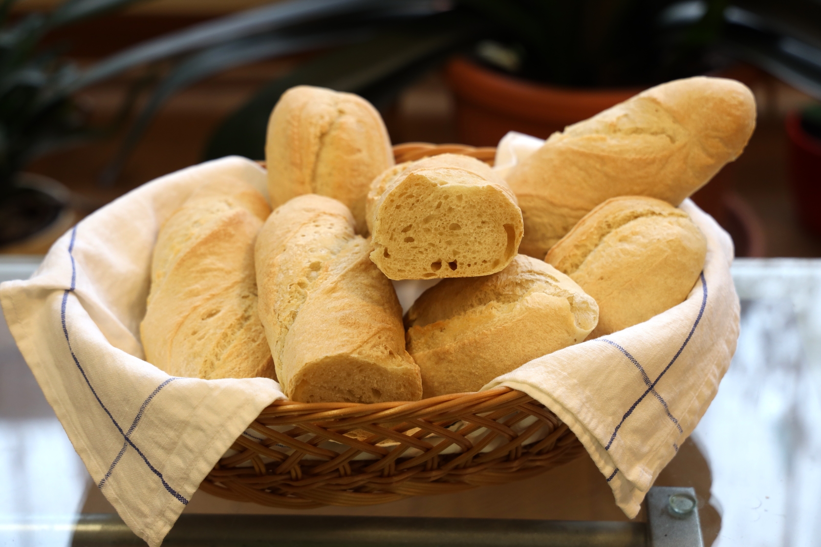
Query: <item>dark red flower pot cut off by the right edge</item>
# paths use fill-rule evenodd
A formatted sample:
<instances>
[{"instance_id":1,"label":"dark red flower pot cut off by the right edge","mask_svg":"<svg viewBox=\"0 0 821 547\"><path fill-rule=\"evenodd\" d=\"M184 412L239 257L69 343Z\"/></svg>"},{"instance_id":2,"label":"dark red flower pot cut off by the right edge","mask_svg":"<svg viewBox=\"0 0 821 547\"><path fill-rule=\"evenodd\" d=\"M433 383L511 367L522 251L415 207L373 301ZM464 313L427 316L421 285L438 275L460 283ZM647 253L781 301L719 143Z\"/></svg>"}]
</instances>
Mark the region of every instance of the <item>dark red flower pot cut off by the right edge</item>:
<instances>
[{"instance_id":1,"label":"dark red flower pot cut off by the right edge","mask_svg":"<svg viewBox=\"0 0 821 547\"><path fill-rule=\"evenodd\" d=\"M799 112L787 116L788 169L793 203L801 225L821 236L821 140L801 127Z\"/></svg>"}]
</instances>

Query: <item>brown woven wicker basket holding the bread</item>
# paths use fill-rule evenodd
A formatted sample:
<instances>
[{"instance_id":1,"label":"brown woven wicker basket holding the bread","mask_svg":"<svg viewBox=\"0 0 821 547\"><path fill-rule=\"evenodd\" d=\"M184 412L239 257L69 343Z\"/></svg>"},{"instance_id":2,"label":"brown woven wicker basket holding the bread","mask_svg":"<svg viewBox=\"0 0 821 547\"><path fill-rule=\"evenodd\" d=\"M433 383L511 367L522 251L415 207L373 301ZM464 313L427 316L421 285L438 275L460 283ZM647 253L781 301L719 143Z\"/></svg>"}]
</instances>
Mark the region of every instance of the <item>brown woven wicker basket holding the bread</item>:
<instances>
[{"instance_id":1,"label":"brown woven wicker basket holding the bread","mask_svg":"<svg viewBox=\"0 0 821 547\"><path fill-rule=\"evenodd\" d=\"M397 162L494 148L399 144ZM296 403L265 408L200 488L284 508L370 505L516 481L584 452L547 408L510 388L412 403Z\"/></svg>"}]
</instances>

